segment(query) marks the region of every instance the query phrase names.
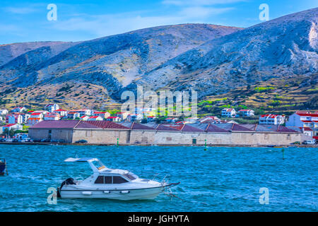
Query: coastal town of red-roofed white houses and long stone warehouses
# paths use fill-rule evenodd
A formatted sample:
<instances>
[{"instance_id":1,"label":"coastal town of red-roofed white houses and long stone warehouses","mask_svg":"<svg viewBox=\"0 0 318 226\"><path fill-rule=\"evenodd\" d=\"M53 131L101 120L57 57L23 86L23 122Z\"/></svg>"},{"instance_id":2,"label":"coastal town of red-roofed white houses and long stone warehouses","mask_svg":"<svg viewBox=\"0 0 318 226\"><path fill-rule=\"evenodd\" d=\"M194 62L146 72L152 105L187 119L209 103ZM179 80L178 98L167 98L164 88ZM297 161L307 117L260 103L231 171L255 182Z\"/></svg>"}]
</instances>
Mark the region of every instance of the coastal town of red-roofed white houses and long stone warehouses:
<instances>
[{"instance_id":1,"label":"coastal town of red-roofed white houses and long stone warehouses","mask_svg":"<svg viewBox=\"0 0 318 226\"><path fill-rule=\"evenodd\" d=\"M134 114L94 109L0 109L1 142L144 145L314 145L318 112L255 116L253 109L224 108L218 116L159 117L154 109ZM235 119L259 117L258 124Z\"/></svg>"}]
</instances>

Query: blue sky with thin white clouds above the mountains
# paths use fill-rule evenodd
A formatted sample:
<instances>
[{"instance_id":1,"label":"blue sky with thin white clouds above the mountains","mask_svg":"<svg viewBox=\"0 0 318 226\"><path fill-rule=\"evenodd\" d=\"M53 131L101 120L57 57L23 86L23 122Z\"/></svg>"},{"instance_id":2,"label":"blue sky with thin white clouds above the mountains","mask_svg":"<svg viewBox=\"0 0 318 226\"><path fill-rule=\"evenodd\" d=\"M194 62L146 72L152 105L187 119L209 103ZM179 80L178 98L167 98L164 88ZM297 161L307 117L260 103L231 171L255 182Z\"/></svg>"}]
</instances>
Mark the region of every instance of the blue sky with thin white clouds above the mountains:
<instances>
[{"instance_id":1,"label":"blue sky with thin white clouds above the mountains","mask_svg":"<svg viewBox=\"0 0 318 226\"><path fill-rule=\"evenodd\" d=\"M57 20L47 20L48 4ZM318 0L50 0L0 1L0 44L81 41L140 28L180 23L211 23L247 28L261 23L259 5L269 18L318 6Z\"/></svg>"}]
</instances>

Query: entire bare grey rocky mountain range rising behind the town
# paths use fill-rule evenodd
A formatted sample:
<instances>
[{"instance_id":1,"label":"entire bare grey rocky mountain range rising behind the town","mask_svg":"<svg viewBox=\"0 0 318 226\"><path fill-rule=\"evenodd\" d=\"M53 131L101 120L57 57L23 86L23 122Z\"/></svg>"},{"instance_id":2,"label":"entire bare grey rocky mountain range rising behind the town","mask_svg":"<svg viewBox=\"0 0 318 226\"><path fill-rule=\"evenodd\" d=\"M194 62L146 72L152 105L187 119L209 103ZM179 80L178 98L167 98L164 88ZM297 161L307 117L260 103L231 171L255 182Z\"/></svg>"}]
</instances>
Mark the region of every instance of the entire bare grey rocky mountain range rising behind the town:
<instances>
[{"instance_id":1,"label":"entire bare grey rocky mountain range rising behind the town","mask_svg":"<svg viewBox=\"0 0 318 226\"><path fill-rule=\"evenodd\" d=\"M59 48L27 51L22 44L20 55L0 58L0 106L57 101L66 107L103 108L136 85L194 88L201 99L272 80L315 90L317 17L318 8L313 8L245 29L184 24L61 43Z\"/></svg>"}]
</instances>

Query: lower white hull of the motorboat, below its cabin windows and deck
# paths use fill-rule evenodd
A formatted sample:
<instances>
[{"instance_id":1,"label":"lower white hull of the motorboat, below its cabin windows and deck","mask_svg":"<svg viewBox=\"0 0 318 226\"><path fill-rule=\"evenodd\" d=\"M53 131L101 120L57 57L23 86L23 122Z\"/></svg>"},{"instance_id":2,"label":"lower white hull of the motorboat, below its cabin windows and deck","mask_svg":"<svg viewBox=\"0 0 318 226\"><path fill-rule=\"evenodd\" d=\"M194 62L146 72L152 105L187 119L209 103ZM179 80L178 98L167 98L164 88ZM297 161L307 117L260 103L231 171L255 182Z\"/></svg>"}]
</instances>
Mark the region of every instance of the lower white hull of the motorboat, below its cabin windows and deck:
<instances>
[{"instance_id":1,"label":"lower white hull of the motorboat, below its cabin windows and deck","mask_svg":"<svg viewBox=\"0 0 318 226\"><path fill-rule=\"evenodd\" d=\"M61 198L108 198L115 200L154 199L164 187L126 190L77 190L61 189Z\"/></svg>"}]
</instances>

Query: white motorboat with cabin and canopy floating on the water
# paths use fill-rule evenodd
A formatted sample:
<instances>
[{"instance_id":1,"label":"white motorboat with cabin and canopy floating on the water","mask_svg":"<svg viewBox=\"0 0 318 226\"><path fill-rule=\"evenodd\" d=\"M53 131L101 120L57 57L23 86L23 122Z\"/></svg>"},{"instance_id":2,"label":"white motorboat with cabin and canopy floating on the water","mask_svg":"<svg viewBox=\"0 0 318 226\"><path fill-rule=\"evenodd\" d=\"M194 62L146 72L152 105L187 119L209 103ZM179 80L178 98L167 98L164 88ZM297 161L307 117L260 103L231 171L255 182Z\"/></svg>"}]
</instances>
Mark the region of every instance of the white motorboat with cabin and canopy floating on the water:
<instances>
[{"instance_id":1,"label":"white motorboat with cabin and canopy floating on the water","mask_svg":"<svg viewBox=\"0 0 318 226\"><path fill-rule=\"evenodd\" d=\"M83 181L66 179L57 189L60 198L153 199L179 183L141 179L123 169L109 169L97 158L68 158L65 162L88 162L93 174Z\"/></svg>"}]
</instances>

